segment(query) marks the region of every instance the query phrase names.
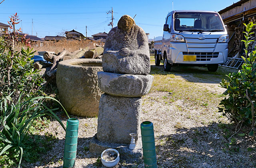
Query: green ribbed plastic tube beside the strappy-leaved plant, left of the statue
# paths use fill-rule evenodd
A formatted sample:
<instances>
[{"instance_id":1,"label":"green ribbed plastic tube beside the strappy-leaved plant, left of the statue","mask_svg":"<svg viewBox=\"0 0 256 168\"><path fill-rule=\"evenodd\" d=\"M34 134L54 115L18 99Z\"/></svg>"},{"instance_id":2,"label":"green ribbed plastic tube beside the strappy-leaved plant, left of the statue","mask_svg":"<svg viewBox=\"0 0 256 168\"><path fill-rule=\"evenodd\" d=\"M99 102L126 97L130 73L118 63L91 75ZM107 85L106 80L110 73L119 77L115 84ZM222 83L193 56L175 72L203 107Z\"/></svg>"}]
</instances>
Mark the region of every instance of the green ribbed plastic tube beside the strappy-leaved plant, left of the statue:
<instances>
[{"instance_id":1,"label":"green ribbed plastic tube beside the strappy-leaved plant, left of the statue","mask_svg":"<svg viewBox=\"0 0 256 168\"><path fill-rule=\"evenodd\" d=\"M75 166L78 124L77 118L69 118L67 121L63 168L73 168Z\"/></svg>"}]
</instances>

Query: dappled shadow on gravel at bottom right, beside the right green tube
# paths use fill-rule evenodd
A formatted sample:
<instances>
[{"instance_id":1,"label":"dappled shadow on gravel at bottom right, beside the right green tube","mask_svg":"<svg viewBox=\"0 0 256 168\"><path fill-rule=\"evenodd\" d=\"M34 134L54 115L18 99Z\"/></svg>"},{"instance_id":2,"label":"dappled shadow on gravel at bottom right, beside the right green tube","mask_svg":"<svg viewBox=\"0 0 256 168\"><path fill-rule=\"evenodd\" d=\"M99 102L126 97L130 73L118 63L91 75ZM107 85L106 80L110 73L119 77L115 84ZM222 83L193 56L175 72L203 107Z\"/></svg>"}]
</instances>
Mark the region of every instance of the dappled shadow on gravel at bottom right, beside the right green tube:
<instances>
[{"instance_id":1,"label":"dappled shadow on gravel at bottom right, beside the right green tube","mask_svg":"<svg viewBox=\"0 0 256 168\"><path fill-rule=\"evenodd\" d=\"M252 168L256 149L231 124L212 123L195 128L177 128L175 134L156 137L159 167L171 168ZM240 132L238 132L240 133ZM162 157L165 156L165 157Z\"/></svg>"}]
</instances>

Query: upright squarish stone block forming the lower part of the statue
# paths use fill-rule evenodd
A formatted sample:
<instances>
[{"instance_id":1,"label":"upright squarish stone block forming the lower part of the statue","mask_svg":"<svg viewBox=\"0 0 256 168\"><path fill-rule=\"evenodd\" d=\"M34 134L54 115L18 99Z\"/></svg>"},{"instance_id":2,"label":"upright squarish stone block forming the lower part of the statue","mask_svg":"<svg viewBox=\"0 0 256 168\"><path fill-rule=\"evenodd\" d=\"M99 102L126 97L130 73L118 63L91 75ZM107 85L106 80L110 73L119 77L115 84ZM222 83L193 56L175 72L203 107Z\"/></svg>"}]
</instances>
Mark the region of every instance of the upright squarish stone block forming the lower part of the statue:
<instances>
[{"instance_id":1,"label":"upright squarish stone block forming the lower part of the statue","mask_svg":"<svg viewBox=\"0 0 256 168\"><path fill-rule=\"evenodd\" d=\"M130 144L129 134L140 132L141 104L140 97L127 98L102 94L98 116L98 140Z\"/></svg>"}]
</instances>

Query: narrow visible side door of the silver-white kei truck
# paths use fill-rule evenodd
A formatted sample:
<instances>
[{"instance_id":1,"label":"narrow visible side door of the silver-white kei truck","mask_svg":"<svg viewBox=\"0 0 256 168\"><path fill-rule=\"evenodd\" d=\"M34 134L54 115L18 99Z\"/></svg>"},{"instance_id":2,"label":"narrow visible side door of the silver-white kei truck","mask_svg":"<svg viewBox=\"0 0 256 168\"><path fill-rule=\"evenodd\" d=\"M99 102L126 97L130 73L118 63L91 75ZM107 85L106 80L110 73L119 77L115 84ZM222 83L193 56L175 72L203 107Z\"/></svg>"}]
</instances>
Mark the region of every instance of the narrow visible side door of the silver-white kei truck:
<instances>
[{"instance_id":1,"label":"narrow visible side door of the silver-white kei truck","mask_svg":"<svg viewBox=\"0 0 256 168\"><path fill-rule=\"evenodd\" d=\"M166 24L169 25L169 31L163 33L163 46L162 46L162 54L166 51L167 60L170 60L170 32L171 32L171 23L172 23L172 15L166 18ZM164 56L164 55L162 55Z\"/></svg>"}]
</instances>

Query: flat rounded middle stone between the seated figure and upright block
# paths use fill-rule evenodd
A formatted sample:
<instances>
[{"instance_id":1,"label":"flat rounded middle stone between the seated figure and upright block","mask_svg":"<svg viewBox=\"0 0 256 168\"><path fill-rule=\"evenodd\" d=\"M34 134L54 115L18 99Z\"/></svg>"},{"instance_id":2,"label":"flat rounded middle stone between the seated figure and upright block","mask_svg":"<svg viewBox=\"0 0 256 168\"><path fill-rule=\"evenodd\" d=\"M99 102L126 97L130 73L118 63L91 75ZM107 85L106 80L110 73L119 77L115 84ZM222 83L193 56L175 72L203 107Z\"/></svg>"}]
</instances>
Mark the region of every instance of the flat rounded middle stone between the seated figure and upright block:
<instances>
[{"instance_id":1,"label":"flat rounded middle stone between the seated figure and upright block","mask_svg":"<svg viewBox=\"0 0 256 168\"><path fill-rule=\"evenodd\" d=\"M99 88L112 96L141 97L147 94L153 82L152 75L115 74L98 72Z\"/></svg>"}]
</instances>

